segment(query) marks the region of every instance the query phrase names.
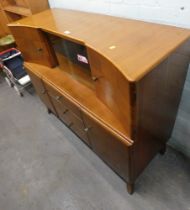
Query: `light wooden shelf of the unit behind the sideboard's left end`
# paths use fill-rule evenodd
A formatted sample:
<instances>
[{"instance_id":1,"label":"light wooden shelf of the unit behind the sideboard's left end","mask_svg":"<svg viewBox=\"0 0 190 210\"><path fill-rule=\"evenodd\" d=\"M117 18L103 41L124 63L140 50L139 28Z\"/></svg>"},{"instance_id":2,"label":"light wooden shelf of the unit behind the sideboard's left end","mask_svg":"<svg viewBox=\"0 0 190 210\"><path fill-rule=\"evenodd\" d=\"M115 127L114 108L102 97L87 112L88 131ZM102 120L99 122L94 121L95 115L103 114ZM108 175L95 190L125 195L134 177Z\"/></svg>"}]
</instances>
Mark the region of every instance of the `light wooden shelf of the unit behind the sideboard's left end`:
<instances>
[{"instance_id":1,"label":"light wooden shelf of the unit behind the sideboard's left end","mask_svg":"<svg viewBox=\"0 0 190 210\"><path fill-rule=\"evenodd\" d=\"M29 8L24 8L24 7L20 7L20 6L6 6L6 7L3 7L3 10L6 11L6 12L11 12L11 13L14 13L14 14L17 14L17 15L22 15L22 16L25 16L25 17L28 17L30 15L32 15L32 12Z\"/></svg>"}]
</instances>

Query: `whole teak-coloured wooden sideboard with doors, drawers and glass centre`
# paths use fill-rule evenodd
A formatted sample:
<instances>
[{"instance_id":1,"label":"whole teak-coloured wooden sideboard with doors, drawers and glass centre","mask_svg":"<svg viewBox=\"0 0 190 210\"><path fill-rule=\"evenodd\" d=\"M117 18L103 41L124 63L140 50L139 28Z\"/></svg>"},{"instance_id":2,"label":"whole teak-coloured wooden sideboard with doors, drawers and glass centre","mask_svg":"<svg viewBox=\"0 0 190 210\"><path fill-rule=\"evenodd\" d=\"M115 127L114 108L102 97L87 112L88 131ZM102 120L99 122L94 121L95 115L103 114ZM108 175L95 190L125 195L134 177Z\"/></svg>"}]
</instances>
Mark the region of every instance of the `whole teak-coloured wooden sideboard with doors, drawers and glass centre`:
<instances>
[{"instance_id":1,"label":"whole teak-coloured wooden sideboard with doors, drawers and glass centre","mask_svg":"<svg viewBox=\"0 0 190 210\"><path fill-rule=\"evenodd\" d=\"M170 138L189 65L190 31L63 9L9 27L48 111L132 193Z\"/></svg>"}]
</instances>

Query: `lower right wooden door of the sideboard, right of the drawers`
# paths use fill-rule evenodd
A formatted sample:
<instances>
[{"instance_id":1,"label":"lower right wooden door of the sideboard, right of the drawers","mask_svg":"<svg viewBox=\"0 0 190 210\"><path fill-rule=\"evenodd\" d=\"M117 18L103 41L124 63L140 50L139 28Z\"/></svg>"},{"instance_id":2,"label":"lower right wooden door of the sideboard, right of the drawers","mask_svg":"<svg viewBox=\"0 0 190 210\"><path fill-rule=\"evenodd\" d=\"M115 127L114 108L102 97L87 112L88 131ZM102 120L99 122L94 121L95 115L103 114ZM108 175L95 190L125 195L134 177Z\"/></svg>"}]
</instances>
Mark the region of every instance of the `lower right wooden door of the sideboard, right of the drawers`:
<instances>
[{"instance_id":1,"label":"lower right wooden door of the sideboard, right of the drawers","mask_svg":"<svg viewBox=\"0 0 190 210\"><path fill-rule=\"evenodd\" d=\"M83 120L92 149L117 174L127 181L129 177L129 148L84 113Z\"/></svg>"}]
</instances>

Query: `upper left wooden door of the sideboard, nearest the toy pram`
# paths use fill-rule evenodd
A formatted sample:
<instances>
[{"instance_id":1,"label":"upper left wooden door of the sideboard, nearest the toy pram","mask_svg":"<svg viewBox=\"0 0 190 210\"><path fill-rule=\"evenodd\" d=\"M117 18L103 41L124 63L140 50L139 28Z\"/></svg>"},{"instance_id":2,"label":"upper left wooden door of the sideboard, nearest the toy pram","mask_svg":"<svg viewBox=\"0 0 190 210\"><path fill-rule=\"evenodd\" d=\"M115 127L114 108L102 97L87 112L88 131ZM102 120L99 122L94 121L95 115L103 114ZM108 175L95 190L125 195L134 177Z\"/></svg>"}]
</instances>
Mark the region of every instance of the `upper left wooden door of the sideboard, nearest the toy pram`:
<instances>
[{"instance_id":1,"label":"upper left wooden door of the sideboard, nearest the toy pram","mask_svg":"<svg viewBox=\"0 0 190 210\"><path fill-rule=\"evenodd\" d=\"M48 67L56 65L54 53L45 35L39 29L19 25L11 26L10 29L25 61Z\"/></svg>"}]
</instances>

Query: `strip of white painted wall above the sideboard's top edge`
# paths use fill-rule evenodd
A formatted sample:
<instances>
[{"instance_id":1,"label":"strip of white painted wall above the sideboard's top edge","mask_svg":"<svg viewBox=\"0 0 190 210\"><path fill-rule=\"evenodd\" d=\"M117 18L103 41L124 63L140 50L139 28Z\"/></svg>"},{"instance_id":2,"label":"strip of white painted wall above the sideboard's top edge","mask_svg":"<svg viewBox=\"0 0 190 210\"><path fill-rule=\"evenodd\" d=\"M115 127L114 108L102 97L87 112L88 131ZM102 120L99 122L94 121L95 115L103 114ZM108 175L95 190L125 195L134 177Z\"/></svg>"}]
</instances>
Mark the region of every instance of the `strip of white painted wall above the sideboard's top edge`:
<instances>
[{"instance_id":1,"label":"strip of white painted wall above the sideboard's top edge","mask_svg":"<svg viewBox=\"0 0 190 210\"><path fill-rule=\"evenodd\" d=\"M69 8L190 28L190 0L49 0Z\"/></svg>"}]
</instances>

